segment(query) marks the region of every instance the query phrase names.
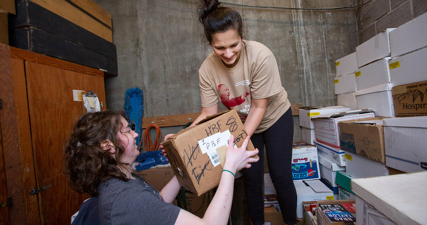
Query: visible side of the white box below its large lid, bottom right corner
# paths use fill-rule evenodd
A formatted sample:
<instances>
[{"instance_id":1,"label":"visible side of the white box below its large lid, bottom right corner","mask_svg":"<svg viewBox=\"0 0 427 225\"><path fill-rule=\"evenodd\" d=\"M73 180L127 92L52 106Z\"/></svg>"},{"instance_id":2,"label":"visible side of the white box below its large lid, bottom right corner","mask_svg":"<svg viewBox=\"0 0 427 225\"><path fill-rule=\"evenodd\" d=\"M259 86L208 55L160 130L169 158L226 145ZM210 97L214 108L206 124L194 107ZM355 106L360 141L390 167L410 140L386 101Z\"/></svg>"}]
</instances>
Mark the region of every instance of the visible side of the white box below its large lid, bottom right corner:
<instances>
[{"instance_id":1,"label":"visible side of the white box below its large lid, bottom right corner","mask_svg":"<svg viewBox=\"0 0 427 225\"><path fill-rule=\"evenodd\" d=\"M378 211L375 207L369 204L356 195L356 212L357 224L361 225L397 225L386 215Z\"/></svg>"}]
</instances>

